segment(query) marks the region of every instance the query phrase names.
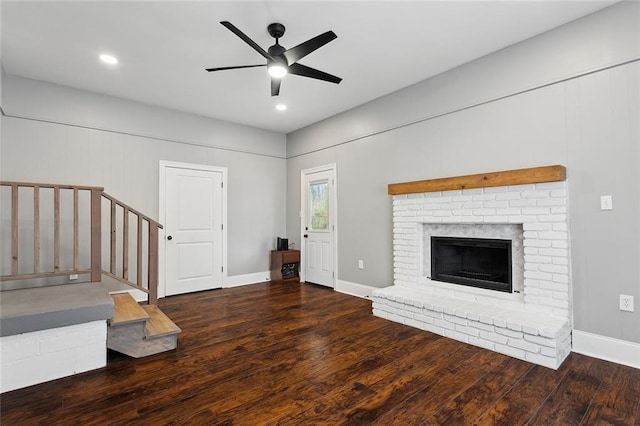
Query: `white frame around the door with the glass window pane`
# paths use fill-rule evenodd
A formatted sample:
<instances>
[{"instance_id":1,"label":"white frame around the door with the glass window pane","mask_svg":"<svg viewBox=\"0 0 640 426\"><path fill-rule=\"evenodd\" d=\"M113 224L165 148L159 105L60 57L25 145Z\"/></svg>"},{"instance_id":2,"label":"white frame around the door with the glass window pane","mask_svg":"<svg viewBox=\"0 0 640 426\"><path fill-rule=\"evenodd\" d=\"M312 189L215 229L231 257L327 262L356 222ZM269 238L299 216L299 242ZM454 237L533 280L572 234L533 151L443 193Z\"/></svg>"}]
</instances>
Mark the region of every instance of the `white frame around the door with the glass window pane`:
<instances>
[{"instance_id":1,"label":"white frame around the door with the glass window pane","mask_svg":"<svg viewBox=\"0 0 640 426\"><path fill-rule=\"evenodd\" d=\"M336 163L327 164L324 166L313 167L311 169L304 169L300 172L300 268L299 275L300 281L305 282L305 251L306 244L303 235L305 234L305 224L307 223L307 188L305 178L307 175L318 172L330 172L333 185L330 186L331 195L333 197L333 205L329 206L329 213L333 215L333 289L336 288L336 282L338 281L338 178L336 173Z\"/></svg>"}]
</instances>

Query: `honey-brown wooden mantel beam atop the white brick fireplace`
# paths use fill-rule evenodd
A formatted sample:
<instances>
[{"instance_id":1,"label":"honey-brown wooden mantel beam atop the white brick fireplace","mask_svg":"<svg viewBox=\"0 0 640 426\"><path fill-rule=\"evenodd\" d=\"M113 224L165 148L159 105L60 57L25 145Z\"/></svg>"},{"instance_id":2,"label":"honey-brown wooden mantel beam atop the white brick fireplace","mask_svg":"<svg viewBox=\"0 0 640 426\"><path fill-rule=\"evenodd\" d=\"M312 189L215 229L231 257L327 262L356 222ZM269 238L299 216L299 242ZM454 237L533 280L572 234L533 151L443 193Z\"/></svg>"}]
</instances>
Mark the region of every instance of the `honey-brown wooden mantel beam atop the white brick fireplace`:
<instances>
[{"instance_id":1,"label":"honey-brown wooden mantel beam atop the white brick fireplace","mask_svg":"<svg viewBox=\"0 0 640 426\"><path fill-rule=\"evenodd\" d=\"M566 179L564 166L532 167L477 175L455 176L414 182L390 183L389 195L420 192L451 191L455 189L487 188L492 186L524 185L529 183L558 182Z\"/></svg>"}]
</instances>

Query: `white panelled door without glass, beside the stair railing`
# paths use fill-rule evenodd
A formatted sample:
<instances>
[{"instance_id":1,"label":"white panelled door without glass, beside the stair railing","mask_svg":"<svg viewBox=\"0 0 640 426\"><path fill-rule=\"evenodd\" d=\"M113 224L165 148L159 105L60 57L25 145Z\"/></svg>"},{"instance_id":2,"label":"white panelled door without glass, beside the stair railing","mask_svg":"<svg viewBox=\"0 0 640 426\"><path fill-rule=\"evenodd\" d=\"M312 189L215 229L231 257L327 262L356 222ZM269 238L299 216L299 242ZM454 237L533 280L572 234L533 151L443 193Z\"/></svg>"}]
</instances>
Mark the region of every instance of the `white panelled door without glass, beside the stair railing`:
<instances>
[{"instance_id":1,"label":"white panelled door without glass, beside the stair railing","mask_svg":"<svg viewBox=\"0 0 640 426\"><path fill-rule=\"evenodd\" d=\"M219 171L165 169L165 295L222 287Z\"/></svg>"}]
</instances>

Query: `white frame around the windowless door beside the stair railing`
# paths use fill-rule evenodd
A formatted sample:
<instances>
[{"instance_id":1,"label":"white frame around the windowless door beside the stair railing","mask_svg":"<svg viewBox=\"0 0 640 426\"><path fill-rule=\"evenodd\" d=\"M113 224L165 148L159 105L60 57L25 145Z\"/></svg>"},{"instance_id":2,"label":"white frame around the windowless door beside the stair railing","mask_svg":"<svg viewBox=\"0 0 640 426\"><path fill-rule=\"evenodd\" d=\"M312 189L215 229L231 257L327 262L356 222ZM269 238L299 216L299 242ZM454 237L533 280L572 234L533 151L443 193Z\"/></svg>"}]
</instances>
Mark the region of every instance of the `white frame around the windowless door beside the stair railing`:
<instances>
[{"instance_id":1,"label":"white frame around the windowless door beside the stair railing","mask_svg":"<svg viewBox=\"0 0 640 426\"><path fill-rule=\"evenodd\" d=\"M200 170L209 172L222 173L222 286L225 286L227 282L227 168L207 166L204 164L191 164L180 163L175 161L160 160L159 169L159 194L158 194L158 221L163 224L166 221L166 206L167 200L165 199L167 177L166 172L168 168L176 169L189 169ZM166 250L165 250L165 229L160 229L158 232L158 297L165 297L167 289L166 281Z\"/></svg>"}]
</instances>

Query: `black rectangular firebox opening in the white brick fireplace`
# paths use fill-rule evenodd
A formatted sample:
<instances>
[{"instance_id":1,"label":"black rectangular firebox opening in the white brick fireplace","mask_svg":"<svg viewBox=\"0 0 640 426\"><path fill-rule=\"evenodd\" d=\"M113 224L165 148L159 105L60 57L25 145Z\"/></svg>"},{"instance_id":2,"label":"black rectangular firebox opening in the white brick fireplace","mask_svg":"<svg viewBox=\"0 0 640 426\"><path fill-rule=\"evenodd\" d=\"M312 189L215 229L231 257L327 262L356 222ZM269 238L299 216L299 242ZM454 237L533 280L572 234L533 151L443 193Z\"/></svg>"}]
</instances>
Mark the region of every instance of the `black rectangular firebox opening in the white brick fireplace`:
<instances>
[{"instance_id":1,"label":"black rectangular firebox opening in the white brick fireplace","mask_svg":"<svg viewBox=\"0 0 640 426\"><path fill-rule=\"evenodd\" d=\"M511 240L431 237L431 279L511 293Z\"/></svg>"}]
</instances>

